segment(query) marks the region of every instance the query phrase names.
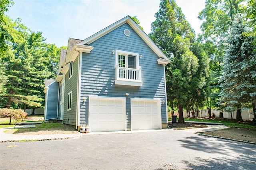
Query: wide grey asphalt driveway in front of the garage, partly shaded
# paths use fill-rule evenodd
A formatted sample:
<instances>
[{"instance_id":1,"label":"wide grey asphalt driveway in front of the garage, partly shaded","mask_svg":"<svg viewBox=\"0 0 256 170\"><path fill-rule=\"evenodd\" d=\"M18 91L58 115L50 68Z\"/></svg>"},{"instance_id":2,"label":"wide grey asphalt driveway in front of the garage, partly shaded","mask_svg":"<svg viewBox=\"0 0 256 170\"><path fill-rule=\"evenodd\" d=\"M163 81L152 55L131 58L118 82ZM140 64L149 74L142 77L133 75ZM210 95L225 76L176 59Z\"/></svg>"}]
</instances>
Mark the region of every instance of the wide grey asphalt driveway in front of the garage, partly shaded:
<instances>
[{"instance_id":1,"label":"wide grey asphalt driveway in front of the garage, partly shaded","mask_svg":"<svg viewBox=\"0 0 256 170\"><path fill-rule=\"evenodd\" d=\"M256 169L256 145L180 130L0 143L5 169Z\"/></svg>"}]
</instances>

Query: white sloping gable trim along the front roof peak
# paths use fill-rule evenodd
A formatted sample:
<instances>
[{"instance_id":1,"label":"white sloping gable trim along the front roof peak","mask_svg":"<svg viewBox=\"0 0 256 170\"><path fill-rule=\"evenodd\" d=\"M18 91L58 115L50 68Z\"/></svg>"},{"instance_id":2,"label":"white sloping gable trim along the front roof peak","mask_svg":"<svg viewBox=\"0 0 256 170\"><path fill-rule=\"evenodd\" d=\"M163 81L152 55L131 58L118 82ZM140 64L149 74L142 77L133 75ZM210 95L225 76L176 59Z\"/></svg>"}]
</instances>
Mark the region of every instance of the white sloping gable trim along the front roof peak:
<instances>
[{"instance_id":1,"label":"white sloping gable trim along the front roof peak","mask_svg":"<svg viewBox=\"0 0 256 170\"><path fill-rule=\"evenodd\" d=\"M144 42L147 43L147 45L156 53L156 55L158 55L158 57L169 61L168 57L166 57L166 55L148 37L148 35L138 26L138 24L136 24L136 22L134 22L134 20L132 20L132 18L130 16L126 16L126 17L122 18L121 20L104 28L103 30L97 32L96 34L90 36L89 38L86 38L85 40L81 41L78 44L79 45L88 45L125 23L129 24L132 27L132 29L140 36L140 38L142 38L142 40L144 40Z\"/></svg>"}]
</instances>

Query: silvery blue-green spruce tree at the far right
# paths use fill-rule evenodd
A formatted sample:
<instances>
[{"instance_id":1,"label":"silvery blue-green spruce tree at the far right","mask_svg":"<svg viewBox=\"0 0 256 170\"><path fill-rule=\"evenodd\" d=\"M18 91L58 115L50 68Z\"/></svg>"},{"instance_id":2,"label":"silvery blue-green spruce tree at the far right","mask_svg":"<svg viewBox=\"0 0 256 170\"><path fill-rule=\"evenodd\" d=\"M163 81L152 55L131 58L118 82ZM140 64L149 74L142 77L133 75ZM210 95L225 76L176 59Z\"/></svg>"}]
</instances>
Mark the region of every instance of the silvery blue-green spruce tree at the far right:
<instances>
[{"instance_id":1,"label":"silvery blue-green spruce tree at the far right","mask_svg":"<svg viewBox=\"0 0 256 170\"><path fill-rule=\"evenodd\" d=\"M253 103L256 99L256 46L252 43L255 37L248 37L245 33L245 22L238 14L228 36L224 69L220 77L220 105L228 110L236 108L237 121L242 121L241 109L248 107L245 104Z\"/></svg>"}]
</instances>

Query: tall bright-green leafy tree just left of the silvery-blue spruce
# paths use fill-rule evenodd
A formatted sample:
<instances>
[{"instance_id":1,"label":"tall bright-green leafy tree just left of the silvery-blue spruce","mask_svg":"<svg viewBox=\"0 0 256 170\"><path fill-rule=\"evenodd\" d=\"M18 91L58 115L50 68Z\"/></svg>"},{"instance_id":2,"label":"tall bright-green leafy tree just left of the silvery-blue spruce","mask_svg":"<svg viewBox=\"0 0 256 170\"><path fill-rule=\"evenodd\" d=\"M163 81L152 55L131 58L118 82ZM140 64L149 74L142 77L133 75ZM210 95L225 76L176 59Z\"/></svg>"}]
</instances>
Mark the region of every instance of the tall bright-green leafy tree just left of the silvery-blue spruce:
<instances>
[{"instance_id":1,"label":"tall bright-green leafy tree just left of the silvery-blue spruce","mask_svg":"<svg viewBox=\"0 0 256 170\"><path fill-rule=\"evenodd\" d=\"M221 91L218 77L223 69L222 63L225 54L225 40L230 32L230 26L234 16L238 12L244 12L246 0L206 0L205 8L199 12L198 18L202 20L202 35L200 41L204 44L204 50L210 58L210 95L207 99L208 113L210 117L211 105L217 107L217 99Z\"/></svg>"}]
</instances>

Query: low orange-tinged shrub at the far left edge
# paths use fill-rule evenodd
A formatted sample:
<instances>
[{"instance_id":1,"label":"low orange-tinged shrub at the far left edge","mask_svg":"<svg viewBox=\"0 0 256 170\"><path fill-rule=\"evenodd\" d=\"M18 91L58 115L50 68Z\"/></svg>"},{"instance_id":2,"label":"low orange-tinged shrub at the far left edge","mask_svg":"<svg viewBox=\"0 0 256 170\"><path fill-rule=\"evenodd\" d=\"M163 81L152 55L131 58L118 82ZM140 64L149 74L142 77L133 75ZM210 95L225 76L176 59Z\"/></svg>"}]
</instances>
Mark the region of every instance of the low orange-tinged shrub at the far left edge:
<instances>
[{"instance_id":1,"label":"low orange-tinged shrub at the far left edge","mask_svg":"<svg viewBox=\"0 0 256 170\"><path fill-rule=\"evenodd\" d=\"M27 116L28 114L21 109L0 109L0 117L10 117L9 125L11 125L12 119L19 121L26 119Z\"/></svg>"}]
</instances>

